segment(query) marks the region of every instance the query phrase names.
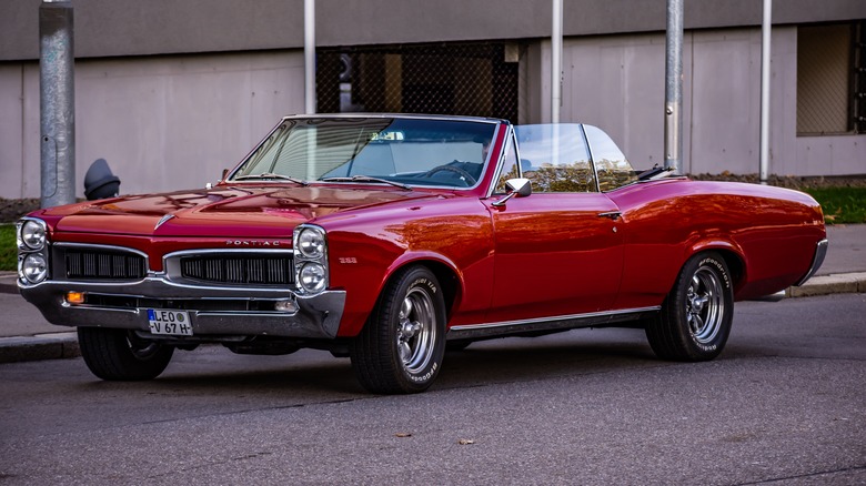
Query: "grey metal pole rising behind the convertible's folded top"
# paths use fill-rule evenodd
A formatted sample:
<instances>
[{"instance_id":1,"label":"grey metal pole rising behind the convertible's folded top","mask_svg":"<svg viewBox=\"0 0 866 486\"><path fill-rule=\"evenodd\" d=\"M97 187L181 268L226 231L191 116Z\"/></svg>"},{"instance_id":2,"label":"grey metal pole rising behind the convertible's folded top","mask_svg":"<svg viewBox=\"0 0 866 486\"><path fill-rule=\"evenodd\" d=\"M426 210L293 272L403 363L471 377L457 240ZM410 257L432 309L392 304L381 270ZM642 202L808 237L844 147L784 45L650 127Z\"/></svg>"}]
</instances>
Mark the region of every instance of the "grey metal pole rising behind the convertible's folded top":
<instances>
[{"instance_id":1,"label":"grey metal pole rising behind the convertible's folded top","mask_svg":"<svg viewBox=\"0 0 866 486\"><path fill-rule=\"evenodd\" d=\"M683 146L683 0L667 0L665 169L681 173Z\"/></svg>"}]
</instances>

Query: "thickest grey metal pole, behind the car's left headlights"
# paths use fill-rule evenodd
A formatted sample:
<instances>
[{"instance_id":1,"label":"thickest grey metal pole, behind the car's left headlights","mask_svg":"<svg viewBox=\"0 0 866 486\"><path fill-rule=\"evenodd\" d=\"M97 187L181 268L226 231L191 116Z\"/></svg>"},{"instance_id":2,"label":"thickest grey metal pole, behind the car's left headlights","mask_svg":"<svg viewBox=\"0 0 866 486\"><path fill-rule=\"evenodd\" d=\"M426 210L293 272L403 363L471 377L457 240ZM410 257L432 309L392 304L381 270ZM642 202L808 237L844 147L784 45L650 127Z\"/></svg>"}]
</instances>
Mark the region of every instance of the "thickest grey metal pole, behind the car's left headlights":
<instances>
[{"instance_id":1,"label":"thickest grey metal pole, behind the car's left headlights","mask_svg":"<svg viewBox=\"0 0 866 486\"><path fill-rule=\"evenodd\" d=\"M39 7L42 207L75 202L75 84L72 3Z\"/></svg>"}]
</instances>

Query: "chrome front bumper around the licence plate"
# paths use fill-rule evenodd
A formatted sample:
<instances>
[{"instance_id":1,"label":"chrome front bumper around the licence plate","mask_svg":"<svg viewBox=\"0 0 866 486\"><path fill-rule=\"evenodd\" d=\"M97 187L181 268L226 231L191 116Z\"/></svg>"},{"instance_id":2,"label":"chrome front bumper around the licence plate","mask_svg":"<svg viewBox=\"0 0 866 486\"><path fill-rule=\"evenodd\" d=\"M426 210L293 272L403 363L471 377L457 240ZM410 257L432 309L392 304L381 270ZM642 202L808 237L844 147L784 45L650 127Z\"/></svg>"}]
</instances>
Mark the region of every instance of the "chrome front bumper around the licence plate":
<instances>
[{"instance_id":1,"label":"chrome front bumper around the licence plate","mask_svg":"<svg viewBox=\"0 0 866 486\"><path fill-rule=\"evenodd\" d=\"M148 308L178 308L189 312L193 335L199 337L269 335L334 338L345 304L344 291L325 291L305 296L285 288L185 285L161 276L124 283L46 281L37 285L22 285L19 282L19 288L21 295L39 307L52 324L150 332ZM66 300L70 291L98 297L93 301L132 304L73 305ZM264 304L256 306L266 307L269 301L286 300L296 304L294 312L231 310L249 303ZM147 301L147 304L141 305L142 301ZM220 308L223 304L226 304L224 310Z\"/></svg>"}]
</instances>

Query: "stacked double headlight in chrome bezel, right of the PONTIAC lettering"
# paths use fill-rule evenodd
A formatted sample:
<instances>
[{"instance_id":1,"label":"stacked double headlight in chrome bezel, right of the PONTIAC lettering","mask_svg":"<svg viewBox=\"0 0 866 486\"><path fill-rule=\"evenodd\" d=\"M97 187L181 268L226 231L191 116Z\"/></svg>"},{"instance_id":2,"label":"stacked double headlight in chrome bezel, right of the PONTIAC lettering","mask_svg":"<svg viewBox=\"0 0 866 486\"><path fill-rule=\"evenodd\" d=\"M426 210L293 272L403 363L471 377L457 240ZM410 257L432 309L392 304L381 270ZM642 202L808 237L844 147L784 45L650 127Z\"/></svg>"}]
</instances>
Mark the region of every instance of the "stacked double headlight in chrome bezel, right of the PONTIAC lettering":
<instances>
[{"instance_id":1,"label":"stacked double headlight in chrome bezel, right of the PONTIAC lettering","mask_svg":"<svg viewBox=\"0 0 866 486\"><path fill-rule=\"evenodd\" d=\"M294 281L299 293L315 295L328 288L328 235L323 227L301 224L292 235Z\"/></svg>"}]
</instances>

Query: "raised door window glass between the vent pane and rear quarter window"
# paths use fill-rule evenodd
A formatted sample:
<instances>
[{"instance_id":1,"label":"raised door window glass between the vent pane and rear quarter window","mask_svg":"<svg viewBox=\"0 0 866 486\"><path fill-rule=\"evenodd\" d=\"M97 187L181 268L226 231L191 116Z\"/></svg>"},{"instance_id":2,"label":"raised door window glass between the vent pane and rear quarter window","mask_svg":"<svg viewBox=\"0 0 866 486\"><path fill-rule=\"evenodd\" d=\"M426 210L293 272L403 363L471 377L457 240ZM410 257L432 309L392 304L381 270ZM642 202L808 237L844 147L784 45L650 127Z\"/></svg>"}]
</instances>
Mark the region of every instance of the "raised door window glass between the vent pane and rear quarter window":
<instances>
[{"instance_id":1,"label":"raised door window glass between the vent pane and rear quarter window","mask_svg":"<svg viewBox=\"0 0 866 486\"><path fill-rule=\"evenodd\" d=\"M517 126L523 176L533 192L597 192L580 124Z\"/></svg>"}]
</instances>

